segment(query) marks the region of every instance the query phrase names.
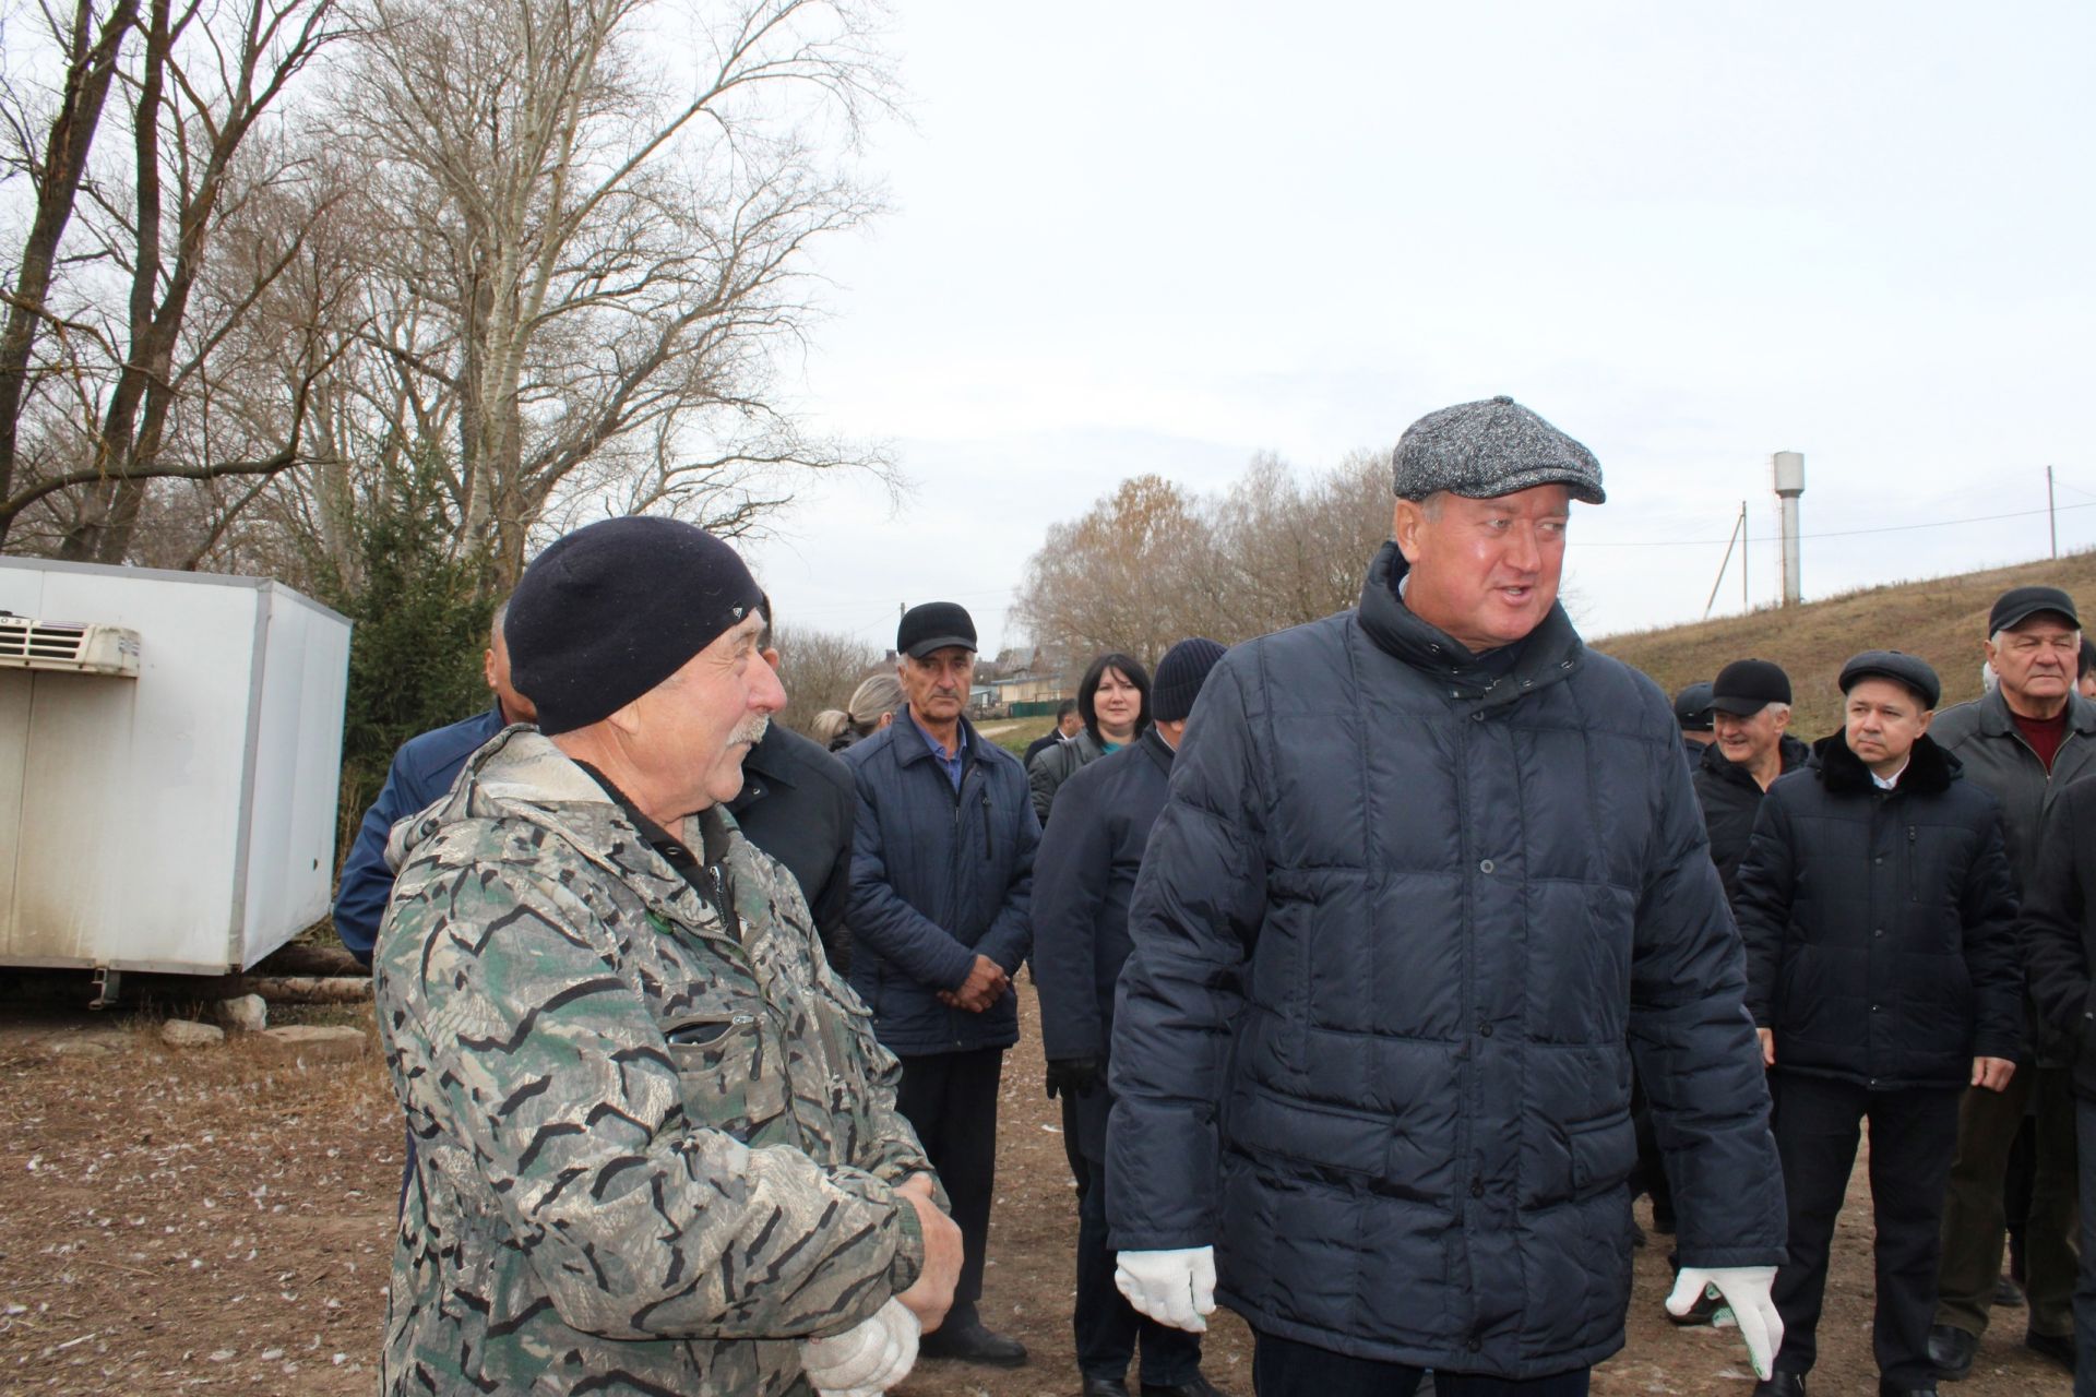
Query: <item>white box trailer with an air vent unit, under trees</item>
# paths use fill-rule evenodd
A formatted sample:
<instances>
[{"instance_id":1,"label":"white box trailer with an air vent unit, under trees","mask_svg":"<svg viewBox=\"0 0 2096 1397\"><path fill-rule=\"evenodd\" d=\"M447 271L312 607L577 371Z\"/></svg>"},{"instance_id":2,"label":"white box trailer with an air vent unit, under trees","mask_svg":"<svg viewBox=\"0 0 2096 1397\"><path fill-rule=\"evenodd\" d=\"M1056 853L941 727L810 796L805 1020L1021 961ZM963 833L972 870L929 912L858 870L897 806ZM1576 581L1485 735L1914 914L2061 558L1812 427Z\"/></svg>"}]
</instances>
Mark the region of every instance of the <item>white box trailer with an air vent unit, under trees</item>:
<instances>
[{"instance_id":1,"label":"white box trailer with an air vent unit, under trees","mask_svg":"<svg viewBox=\"0 0 2096 1397\"><path fill-rule=\"evenodd\" d=\"M327 911L344 616L19 557L0 612L0 966L226 974Z\"/></svg>"}]
</instances>

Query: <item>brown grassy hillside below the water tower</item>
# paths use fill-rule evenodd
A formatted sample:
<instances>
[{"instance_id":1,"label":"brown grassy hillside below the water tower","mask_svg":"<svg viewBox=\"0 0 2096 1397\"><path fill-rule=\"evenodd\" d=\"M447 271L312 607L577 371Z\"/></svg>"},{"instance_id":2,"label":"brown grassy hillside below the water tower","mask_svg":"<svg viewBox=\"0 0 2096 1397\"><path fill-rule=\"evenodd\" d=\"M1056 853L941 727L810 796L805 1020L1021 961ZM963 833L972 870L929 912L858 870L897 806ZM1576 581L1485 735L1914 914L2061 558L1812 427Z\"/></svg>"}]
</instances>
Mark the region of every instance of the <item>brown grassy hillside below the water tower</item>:
<instances>
[{"instance_id":1,"label":"brown grassy hillside below the water tower","mask_svg":"<svg viewBox=\"0 0 2096 1397\"><path fill-rule=\"evenodd\" d=\"M1933 664L1943 677L1943 708L1979 697L1987 609L2010 586L2031 582L2062 586L2088 607L2096 603L2096 553L1872 586L1694 626L1610 635L1595 639L1593 647L1635 664L1668 693L1712 679L1731 660L1773 660L1790 672L1796 695L1790 731L1811 741L1840 725L1834 679L1842 660L1859 649L1903 649Z\"/></svg>"}]
</instances>

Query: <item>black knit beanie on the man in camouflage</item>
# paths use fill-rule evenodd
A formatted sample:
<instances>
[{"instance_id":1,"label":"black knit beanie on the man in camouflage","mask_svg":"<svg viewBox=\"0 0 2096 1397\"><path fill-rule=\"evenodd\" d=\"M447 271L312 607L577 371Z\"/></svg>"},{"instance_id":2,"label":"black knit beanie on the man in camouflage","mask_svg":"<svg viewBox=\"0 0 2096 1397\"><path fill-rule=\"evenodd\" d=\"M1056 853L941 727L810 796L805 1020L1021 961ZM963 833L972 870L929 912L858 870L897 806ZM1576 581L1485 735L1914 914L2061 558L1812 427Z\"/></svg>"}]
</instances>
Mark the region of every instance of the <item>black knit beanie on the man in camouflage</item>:
<instances>
[{"instance_id":1,"label":"black knit beanie on the man in camouflage","mask_svg":"<svg viewBox=\"0 0 2096 1397\"><path fill-rule=\"evenodd\" d=\"M568 733L675 674L759 601L725 542L679 519L625 515L555 538L509 597L509 677L539 731Z\"/></svg>"}]
</instances>

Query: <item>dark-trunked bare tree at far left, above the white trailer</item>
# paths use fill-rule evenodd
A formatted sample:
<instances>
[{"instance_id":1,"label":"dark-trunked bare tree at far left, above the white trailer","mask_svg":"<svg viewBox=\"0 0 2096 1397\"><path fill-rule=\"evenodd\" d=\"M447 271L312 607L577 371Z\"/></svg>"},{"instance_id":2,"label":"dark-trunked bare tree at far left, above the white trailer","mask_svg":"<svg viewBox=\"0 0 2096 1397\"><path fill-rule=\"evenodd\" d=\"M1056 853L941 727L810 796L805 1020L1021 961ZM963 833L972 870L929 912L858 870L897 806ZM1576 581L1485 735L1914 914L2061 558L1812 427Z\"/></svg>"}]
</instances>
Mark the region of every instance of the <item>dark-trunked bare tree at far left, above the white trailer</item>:
<instances>
[{"instance_id":1,"label":"dark-trunked bare tree at far left, above the white trailer","mask_svg":"<svg viewBox=\"0 0 2096 1397\"><path fill-rule=\"evenodd\" d=\"M65 128L67 151L84 157L94 136L88 117L101 115L86 96L107 63L126 96L128 170L111 159L99 178L73 174L67 193L67 170L46 161L38 184L38 222L10 302L34 323L0 354L21 364L13 379L0 371L10 452L0 538L34 509L61 557L113 563L130 555L149 482L266 478L298 459L306 379L285 383L275 431L258 436L260 417L247 417L247 429L212 429L208 360L298 256L300 226L279 224L218 266L226 230L300 180L296 151L262 136L262 124L342 27L333 0L149 0L143 13L111 10L84 48L90 23L90 4L80 4L71 27L52 34L73 54L82 88L75 103L69 73L52 149ZM17 142L23 134L17 124ZM86 207L75 207L80 195ZM57 239L73 216L78 249L65 253ZM46 256L67 276L61 285L46 274L27 295ZM42 360L38 325L50 331ZM296 337L285 354L298 362Z\"/></svg>"}]
</instances>

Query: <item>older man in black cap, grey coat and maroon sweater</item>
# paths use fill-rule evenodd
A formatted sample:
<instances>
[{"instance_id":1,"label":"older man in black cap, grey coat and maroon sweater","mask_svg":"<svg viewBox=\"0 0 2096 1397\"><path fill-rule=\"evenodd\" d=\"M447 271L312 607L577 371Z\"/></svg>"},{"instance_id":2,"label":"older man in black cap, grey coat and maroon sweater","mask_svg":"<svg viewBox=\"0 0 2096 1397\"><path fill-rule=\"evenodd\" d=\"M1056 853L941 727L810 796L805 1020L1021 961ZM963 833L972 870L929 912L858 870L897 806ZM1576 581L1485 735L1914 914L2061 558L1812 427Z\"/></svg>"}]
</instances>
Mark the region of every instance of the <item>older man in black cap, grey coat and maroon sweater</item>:
<instances>
[{"instance_id":1,"label":"older man in black cap, grey coat and maroon sweater","mask_svg":"<svg viewBox=\"0 0 2096 1397\"><path fill-rule=\"evenodd\" d=\"M1947 708L1933 735L1974 785L2002 802L2008 865L2021 896L2058 794L2096 771L2096 704L2075 693L2081 618L2056 586L2014 586L1987 616L1991 693ZM2073 1370L2075 1112L2069 1051L2058 1035L2027 1022L2025 1070L2006 1093L1966 1093L1943 1204L1943 1269L1928 1351L1943 1378L1972 1368L2002 1276L2010 1148L2025 1112L2035 1116L2037 1167L2025 1223L2025 1345Z\"/></svg>"}]
</instances>

